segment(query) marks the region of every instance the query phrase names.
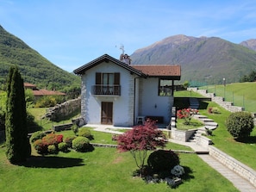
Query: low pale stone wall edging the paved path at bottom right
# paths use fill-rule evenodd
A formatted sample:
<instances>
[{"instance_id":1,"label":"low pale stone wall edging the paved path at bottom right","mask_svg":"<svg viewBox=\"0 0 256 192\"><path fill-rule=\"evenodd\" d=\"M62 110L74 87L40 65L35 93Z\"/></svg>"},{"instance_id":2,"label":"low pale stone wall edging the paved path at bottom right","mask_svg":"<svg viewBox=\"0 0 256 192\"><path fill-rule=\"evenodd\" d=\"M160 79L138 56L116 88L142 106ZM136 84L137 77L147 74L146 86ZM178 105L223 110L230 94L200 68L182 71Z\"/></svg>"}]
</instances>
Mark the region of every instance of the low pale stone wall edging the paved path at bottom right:
<instances>
[{"instance_id":1,"label":"low pale stone wall edging the paved path at bottom right","mask_svg":"<svg viewBox=\"0 0 256 192\"><path fill-rule=\"evenodd\" d=\"M246 164L241 164L239 161L228 156L228 154L218 150L214 146L209 146L209 155L222 162L222 164L226 165L230 170L234 170L240 177L244 177L256 187L255 170L251 169Z\"/></svg>"}]
</instances>

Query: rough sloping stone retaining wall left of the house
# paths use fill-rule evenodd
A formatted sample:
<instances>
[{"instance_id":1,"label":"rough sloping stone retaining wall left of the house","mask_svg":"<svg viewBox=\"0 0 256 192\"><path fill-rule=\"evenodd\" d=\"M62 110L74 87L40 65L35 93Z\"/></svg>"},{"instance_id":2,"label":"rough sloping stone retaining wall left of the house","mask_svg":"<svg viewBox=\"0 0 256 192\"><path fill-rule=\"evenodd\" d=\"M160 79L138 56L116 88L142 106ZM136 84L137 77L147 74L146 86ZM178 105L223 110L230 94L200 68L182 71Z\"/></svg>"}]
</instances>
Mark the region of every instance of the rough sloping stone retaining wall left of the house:
<instances>
[{"instance_id":1,"label":"rough sloping stone retaining wall left of the house","mask_svg":"<svg viewBox=\"0 0 256 192\"><path fill-rule=\"evenodd\" d=\"M43 118L47 118L51 121L59 121L68 115L72 115L72 113L80 110L80 108L81 97L78 97L77 99L72 99L67 102L58 104L53 108L49 108L47 114L44 115Z\"/></svg>"}]
</instances>

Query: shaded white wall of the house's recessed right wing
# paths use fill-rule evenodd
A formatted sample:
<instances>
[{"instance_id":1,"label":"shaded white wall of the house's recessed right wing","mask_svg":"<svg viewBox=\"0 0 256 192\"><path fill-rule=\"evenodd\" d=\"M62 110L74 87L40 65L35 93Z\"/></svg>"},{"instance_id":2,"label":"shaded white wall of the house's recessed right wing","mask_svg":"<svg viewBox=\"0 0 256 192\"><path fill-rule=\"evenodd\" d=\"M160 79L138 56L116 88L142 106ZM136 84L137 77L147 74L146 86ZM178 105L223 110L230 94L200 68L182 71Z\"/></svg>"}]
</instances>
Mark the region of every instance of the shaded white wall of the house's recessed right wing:
<instances>
[{"instance_id":1,"label":"shaded white wall of the house's recessed right wing","mask_svg":"<svg viewBox=\"0 0 256 192\"><path fill-rule=\"evenodd\" d=\"M142 116L163 116L164 123L171 121L173 105L172 96L158 96L159 79L150 77L140 79L140 105L139 115Z\"/></svg>"}]
</instances>

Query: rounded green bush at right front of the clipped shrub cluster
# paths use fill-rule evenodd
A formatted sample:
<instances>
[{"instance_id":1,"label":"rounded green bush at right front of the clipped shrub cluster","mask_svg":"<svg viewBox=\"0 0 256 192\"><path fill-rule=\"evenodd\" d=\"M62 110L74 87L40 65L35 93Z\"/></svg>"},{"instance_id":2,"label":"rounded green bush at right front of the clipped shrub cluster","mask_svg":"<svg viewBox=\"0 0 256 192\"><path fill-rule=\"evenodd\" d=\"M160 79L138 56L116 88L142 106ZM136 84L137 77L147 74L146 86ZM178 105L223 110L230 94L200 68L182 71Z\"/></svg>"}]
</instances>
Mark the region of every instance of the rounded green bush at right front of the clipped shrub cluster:
<instances>
[{"instance_id":1,"label":"rounded green bush at right front of the clipped shrub cluster","mask_svg":"<svg viewBox=\"0 0 256 192\"><path fill-rule=\"evenodd\" d=\"M72 140L72 148L77 152L91 152L93 150L93 146L91 146L89 139L81 136Z\"/></svg>"}]
</instances>

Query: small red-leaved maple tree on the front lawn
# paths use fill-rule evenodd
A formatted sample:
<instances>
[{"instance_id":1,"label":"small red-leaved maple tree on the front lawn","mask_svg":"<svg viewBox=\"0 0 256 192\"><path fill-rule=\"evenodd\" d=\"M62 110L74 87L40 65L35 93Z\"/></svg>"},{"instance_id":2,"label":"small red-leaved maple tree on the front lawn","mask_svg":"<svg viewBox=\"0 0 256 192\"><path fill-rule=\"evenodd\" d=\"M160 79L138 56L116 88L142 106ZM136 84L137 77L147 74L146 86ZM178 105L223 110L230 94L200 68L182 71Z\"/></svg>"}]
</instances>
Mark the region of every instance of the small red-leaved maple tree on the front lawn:
<instances>
[{"instance_id":1,"label":"small red-leaved maple tree on the front lawn","mask_svg":"<svg viewBox=\"0 0 256 192\"><path fill-rule=\"evenodd\" d=\"M155 121L147 120L145 125L135 126L117 139L120 152L131 152L140 173L147 158L147 151L164 147L165 134L158 129Z\"/></svg>"}]
</instances>

